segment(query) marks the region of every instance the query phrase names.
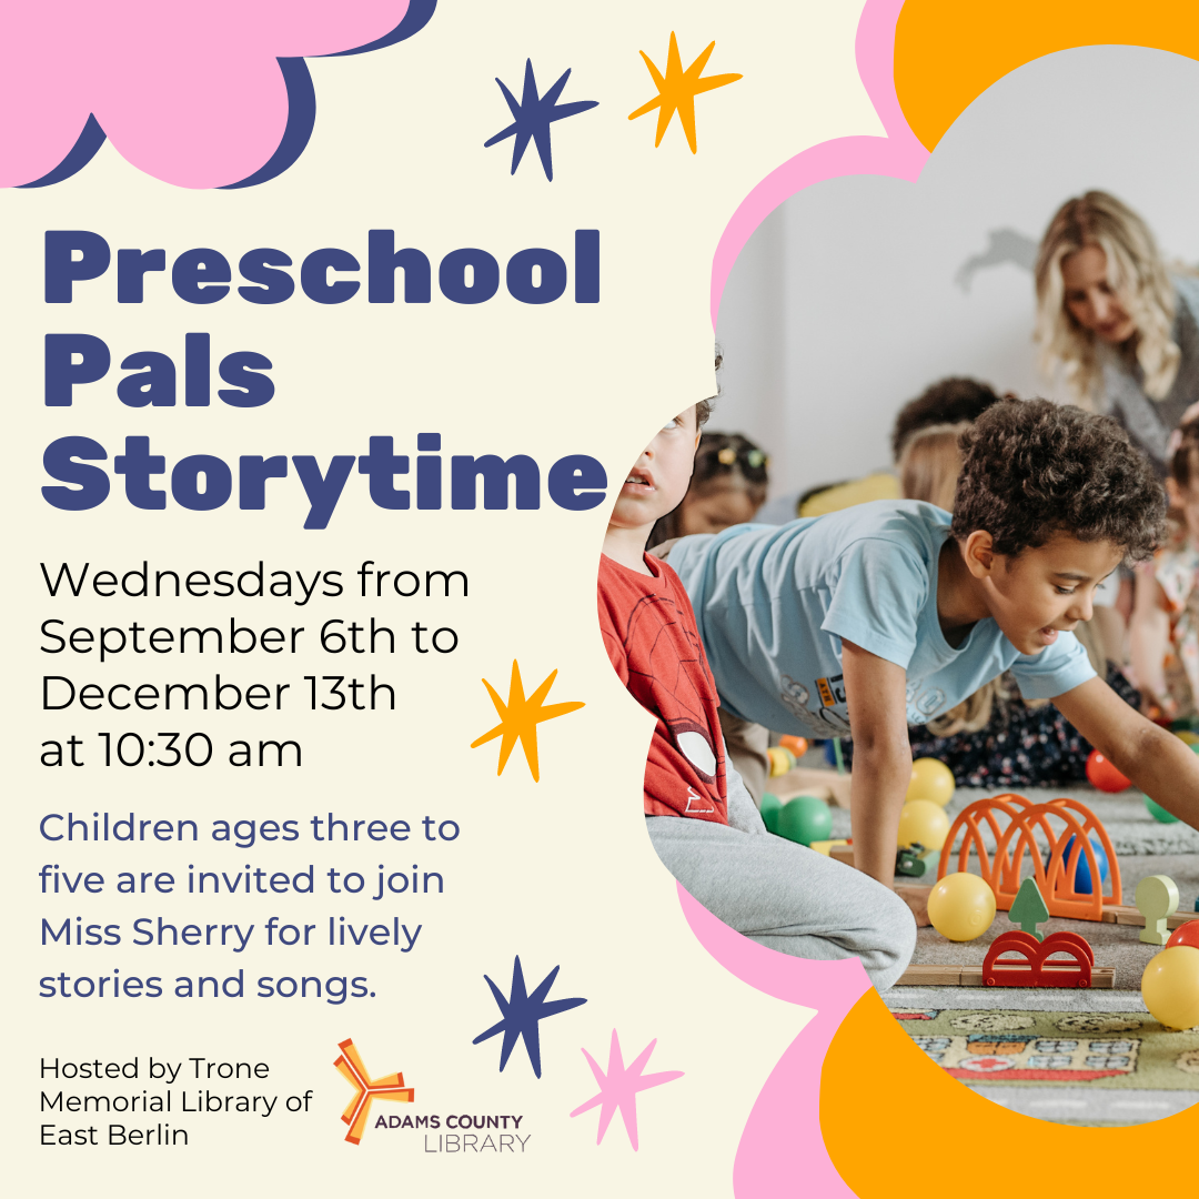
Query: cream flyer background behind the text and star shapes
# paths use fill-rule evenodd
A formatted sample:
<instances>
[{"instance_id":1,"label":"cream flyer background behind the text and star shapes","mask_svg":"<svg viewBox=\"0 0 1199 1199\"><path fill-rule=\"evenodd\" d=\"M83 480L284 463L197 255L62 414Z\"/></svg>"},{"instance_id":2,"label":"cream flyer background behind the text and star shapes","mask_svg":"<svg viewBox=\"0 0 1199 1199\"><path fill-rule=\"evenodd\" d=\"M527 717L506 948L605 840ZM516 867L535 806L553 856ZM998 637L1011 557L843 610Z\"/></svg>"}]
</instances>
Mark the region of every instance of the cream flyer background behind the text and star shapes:
<instances>
[{"instance_id":1,"label":"cream flyer background behind the text and star shapes","mask_svg":"<svg viewBox=\"0 0 1199 1199\"><path fill-rule=\"evenodd\" d=\"M46 189L10 191L2 205L8 364L4 498L11 513L5 558L7 645L5 772L8 827L2 840L6 1012L10 1065L4 1090L6 1165L13 1193L34 1186L49 1195L86 1189L123 1194L147 1186L210 1195L332 1192L348 1181L420 1188L445 1195L628 1194L730 1192L733 1157L753 1101L775 1062L803 1026L802 1008L740 983L700 948L687 929L674 882L644 833L638 793L651 722L620 686L596 629L594 579L605 507L568 513L544 500L537 512L385 512L354 475L325 532L301 528L306 506L294 469L269 484L264 512L230 501L192 513L168 500L165 512L140 512L114 486L108 501L85 513L46 505L41 454L55 438L96 438L112 456L126 435L147 434L168 469L187 453L234 462L240 453L362 453L370 434L391 433L398 452L415 452L417 432L438 429L444 453L534 454L544 470L565 453L585 452L621 475L665 416L710 394L712 332L709 276L717 239L749 188L785 158L819 140L880 133L854 68L855 2L766 5L733 10L715 2L685 10L661 2L617 10L564 10L525 0L517 6L442 0L430 24L409 42L353 59L309 62L318 96L312 141L272 182L240 192L186 192L139 174L110 144L73 179ZM707 73L745 78L699 97L699 153L692 156L675 121L653 149L655 115L626 116L653 94L637 52L664 65L670 30L683 64L712 38ZM482 143L508 122L495 86L519 94L526 56L542 91L567 66L564 102L600 107L555 125L555 177L544 180L535 150L514 177L511 141ZM211 246L230 260L275 246L299 260L323 246L351 251L364 264L366 233L394 228L398 245L436 260L459 246L481 246L501 264L517 249L544 245L566 252L576 228L602 230L603 291L598 306L567 297L526 307L501 289L489 303L458 307L434 291L426 307L369 306L364 294L337 307L301 294L276 307L235 295L209 307L179 301L163 276L151 276L140 307L115 303L115 251ZM83 228L113 247L109 275L77 290L67 306L42 303L42 233ZM364 293L364 289L363 289ZM72 409L46 409L42 337L89 332L104 338L109 378L77 391ZM115 396L120 359L143 349L176 357L185 332L212 335L213 359L253 349L275 362L275 399L234 410L127 409ZM109 468L112 462L109 460ZM119 482L119 481L118 481ZM339 568L373 559L402 570L464 570L469 600L363 602L314 600L307 608L278 601L49 600L40 561L91 561L125 570L249 566ZM348 582L353 583L353 578ZM305 625L308 652L290 659L255 653L228 658L132 655L100 667L92 658L37 651L37 627L49 616L73 625L181 626L203 621ZM452 625L458 651L348 663L314 650L330 617L381 621L406 629L412 620ZM498 746L470 751L495 722L480 683L501 694L513 657L528 689L553 669L550 701L583 699L582 711L543 725L542 781L534 783L519 751L495 777ZM351 669L353 668L353 669ZM305 674L374 669L397 685L394 715L309 713ZM293 683L282 716L245 713L43 713L43 673L80 681L211 680L219 670L241 682ZM219 745L233 737L296 737L301 771L237 772L219 763L150 775L88 765L48 770L38 743L98 730L205 730ZM90 814L133 809L139 815L221 815L303 820L341 817L452 818L463 827L450 846L370 845L330 850L307 837L249 851L197 845L76 843L58 848L36 835L46 812ZM307 825L302 825L307 831ZM415 856L412 849L416 850ZM199 900L123 897L110 881L101 897L41 897L36 872L58 862L77 872L169 869L188 863L235 870L245 863L318 876L330 866L388 869L418 862L446 879L441 897L372 903L313 897ZM376 911L378 909L378 911ZM271 915L323 926L327 915L359 921L398 914L424 928L411 954L394 950L295 950L245 953L109 948L42 948L40 917L85 915L121 922L128 935L139 915L253 921L255 942ZM543 1078L532 1077L518 1047L496 1070L500 1038L471 1046L499 1017L482 975L505 990L520 954L530 988L555 965L550 999L588 1004L542 1024ZM323 1001L38 1000L42 974L364 974L378 998L333 1007ZM302 966L302 971L301 971ZM248 983L247 983L248 987ZM634 1153L614 1121L595 1145L597 1111L567 1113L596 1087L579 1053L607 1066L611 1029L626 1061L653 1037L650 1071L685 1077L644 1092L638 1103L641 1147ZM523 1114L531 1132L520 1158L426 1156L414 1132L368 1128L363 1144L342 1141L338 1115L350 1098L333 1071L337 1042L353 1037L375 1074L402 1070L416 1089L415 1113ZM86 1125L84 1116L42 1116L41 1056L125 1061L205 1056L266 1061L271 1079L243 1090L281 1096L312 1087L308 1116L181 1117L191 1145L143 1149L41 1149L40 1122ZM144 1080L138 1084L149 1086ZM115 1087L109 1084L112 1090ZM56 1089L56 1087L55 1087ZM68 1090L84 1093L86 1084ZM234 1087L218 1087L231 1091ZM282 1105L282 1104L281 1104ZM393 1104L379 1111L404 1114ZM116 1122L152 1120L112 1117ZM101 1126L107 1119L97 1121Z\"/></svg>"}]
</instances>

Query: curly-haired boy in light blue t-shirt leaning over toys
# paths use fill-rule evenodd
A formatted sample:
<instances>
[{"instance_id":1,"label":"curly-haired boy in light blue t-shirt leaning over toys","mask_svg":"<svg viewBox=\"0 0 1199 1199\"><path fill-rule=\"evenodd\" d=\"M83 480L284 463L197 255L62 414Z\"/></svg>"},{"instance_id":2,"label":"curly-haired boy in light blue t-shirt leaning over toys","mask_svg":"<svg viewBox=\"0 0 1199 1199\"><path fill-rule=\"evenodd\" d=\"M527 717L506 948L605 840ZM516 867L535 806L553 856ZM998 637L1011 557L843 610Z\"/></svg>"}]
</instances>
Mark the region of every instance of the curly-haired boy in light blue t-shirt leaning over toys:
<instances>
[{"instance_id":1,"label":"curly-haired boy in light blue t-shirt leaning over toys","mask_svg":"<svg viewBox=\"0 0 1199 1199\"><path fill-rule=\"evenodd\" d=\"M668 561L722 706L777 731L852 730L855 860L891 882L908 724L1011 669L1146 794L1199 825L1199 758L1095 676L1071 629L1163 531L1152 469L1107 417L1007 400L963 434L954 512L878 501L685 537Z\"/></svg>"}]
</instances>

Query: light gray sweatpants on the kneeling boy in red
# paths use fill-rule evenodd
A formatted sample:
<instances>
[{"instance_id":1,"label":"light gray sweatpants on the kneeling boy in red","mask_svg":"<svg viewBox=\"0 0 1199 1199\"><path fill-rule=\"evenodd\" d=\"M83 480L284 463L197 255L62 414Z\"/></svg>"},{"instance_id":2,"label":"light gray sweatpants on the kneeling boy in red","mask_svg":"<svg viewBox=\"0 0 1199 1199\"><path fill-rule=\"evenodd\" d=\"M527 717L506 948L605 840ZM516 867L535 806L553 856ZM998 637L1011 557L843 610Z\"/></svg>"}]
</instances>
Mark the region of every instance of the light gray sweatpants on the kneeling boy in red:
<instances>
[{"instance_id":1,"label":"light gray sweatpants on the kneeling boy in red","mask_svg":"<svg viewBox=\"0 0 1199 1199\"><path fill-rule=\"evenodd\" d=\"M665 868L713 916L767 948L797 958L857 957L879 990L916 947L911 909L851 866L772 837L740 776L728 767L729 824L646 817Z\"/></svg>"}]
</instances>

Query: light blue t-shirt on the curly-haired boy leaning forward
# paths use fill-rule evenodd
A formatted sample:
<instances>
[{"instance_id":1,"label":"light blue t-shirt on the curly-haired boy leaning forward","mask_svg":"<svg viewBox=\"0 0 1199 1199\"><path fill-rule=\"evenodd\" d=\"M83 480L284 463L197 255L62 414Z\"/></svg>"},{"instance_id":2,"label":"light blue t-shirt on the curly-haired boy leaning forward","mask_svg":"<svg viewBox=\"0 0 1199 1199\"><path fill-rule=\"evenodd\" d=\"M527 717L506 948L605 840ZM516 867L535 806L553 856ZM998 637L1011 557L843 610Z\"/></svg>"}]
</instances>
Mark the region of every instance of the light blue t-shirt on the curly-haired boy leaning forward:
<instances>
[{"instance_id":1,"label":"light blue t-shirt on the curly-haired boy leaning forward","mask_svg":"<svg viewBox=\"0 0 1199 1199\"><path fill-rule=\"evenodd\" d=\"M878 500L785 525L683 537L668 562L695 609L721 704L778 733L849 731L845 638L908 673L908 721L926 724L1011 670L1025 699L1049 699L1095 671L1073 633L1020 653L994 620L953 649L936 615L950 514Z\"/></svg>"}]
</instances>

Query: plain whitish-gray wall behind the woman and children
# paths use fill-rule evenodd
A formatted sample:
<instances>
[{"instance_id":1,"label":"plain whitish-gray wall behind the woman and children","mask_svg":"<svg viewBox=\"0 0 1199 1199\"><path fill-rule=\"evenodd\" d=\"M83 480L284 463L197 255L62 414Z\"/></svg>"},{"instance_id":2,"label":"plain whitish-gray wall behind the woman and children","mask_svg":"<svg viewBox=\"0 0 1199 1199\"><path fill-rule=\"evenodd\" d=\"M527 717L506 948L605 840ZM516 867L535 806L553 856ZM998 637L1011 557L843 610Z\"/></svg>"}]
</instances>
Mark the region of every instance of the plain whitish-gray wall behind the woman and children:
<instances>
[{"instance_id":1,"label":"plain whitish-gray wall behind the woman and children","mask_svg":"<svg viewBox=\"0 0 1199 1199\"><path fill-rule=\"evenodd\" d=\"M729 276L711 427L767 450L777 495L888 465L897 409L945 375L1052 394L1031 341L1044 227L1099 187L1167 258L1199 261L1197 131L1199 62L1067 50L975 101L916 183L854 176L791 197Z\"/></svg>"}]
</instances>

